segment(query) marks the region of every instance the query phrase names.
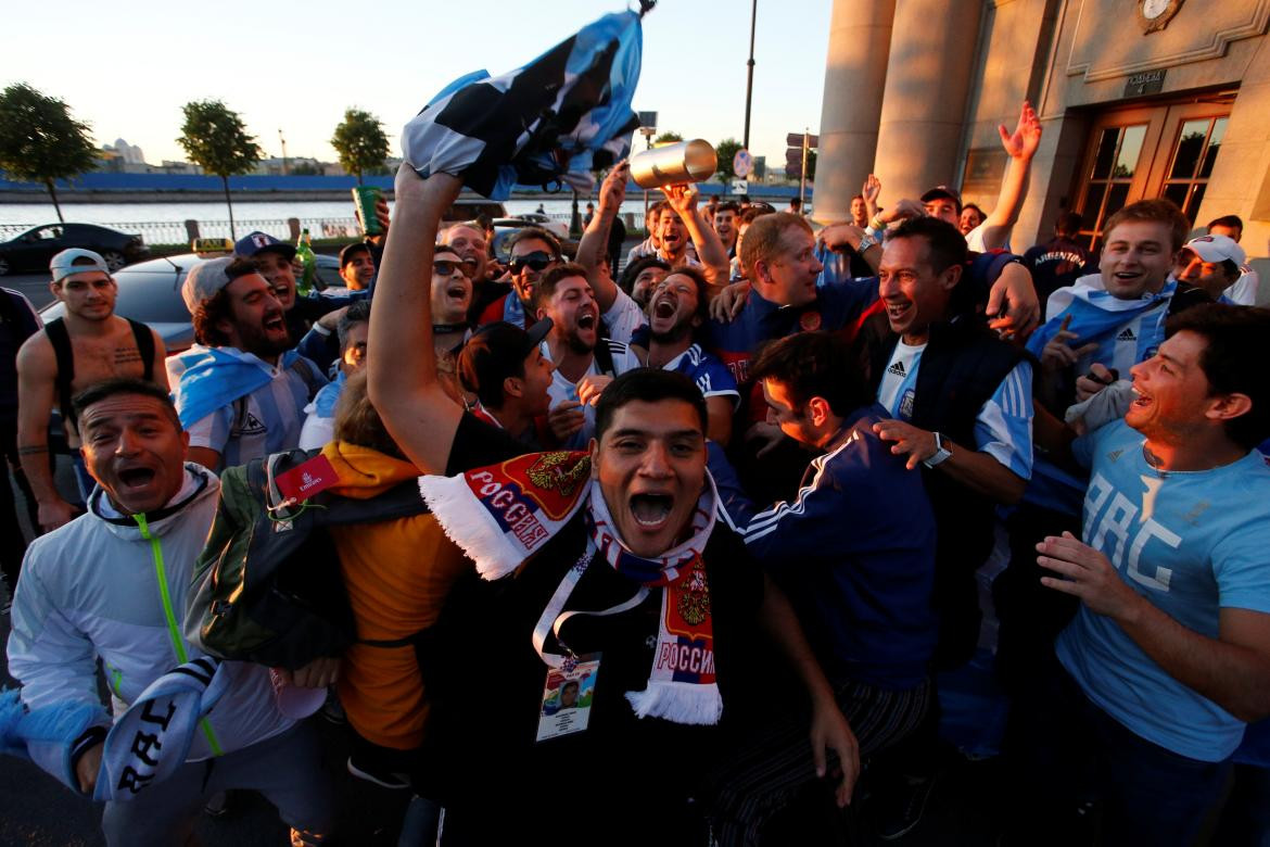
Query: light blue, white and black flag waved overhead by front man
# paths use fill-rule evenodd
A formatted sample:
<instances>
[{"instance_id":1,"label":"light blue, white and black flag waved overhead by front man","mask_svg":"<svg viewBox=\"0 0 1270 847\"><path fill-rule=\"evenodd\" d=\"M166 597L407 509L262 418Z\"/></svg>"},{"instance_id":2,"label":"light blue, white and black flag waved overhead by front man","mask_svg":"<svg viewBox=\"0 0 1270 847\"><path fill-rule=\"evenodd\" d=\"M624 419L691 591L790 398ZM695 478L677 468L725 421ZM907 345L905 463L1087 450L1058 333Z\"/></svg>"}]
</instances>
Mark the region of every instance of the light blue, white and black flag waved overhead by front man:
<instances>
[{"instance_id":1,"label":"light blue, white and black flag waved overhead by front man","mask_svg":"<svg viewBox=\"0 0 1270 847\"><path fill-rule=\"evenodd\" d=\"M405 160L424 178L461 175L490 199L513 185L591 190L592 170L625 157L639 126L643 14L605 15L502 76L455 80L401 131Z\"/></svg>"}]
</instances>

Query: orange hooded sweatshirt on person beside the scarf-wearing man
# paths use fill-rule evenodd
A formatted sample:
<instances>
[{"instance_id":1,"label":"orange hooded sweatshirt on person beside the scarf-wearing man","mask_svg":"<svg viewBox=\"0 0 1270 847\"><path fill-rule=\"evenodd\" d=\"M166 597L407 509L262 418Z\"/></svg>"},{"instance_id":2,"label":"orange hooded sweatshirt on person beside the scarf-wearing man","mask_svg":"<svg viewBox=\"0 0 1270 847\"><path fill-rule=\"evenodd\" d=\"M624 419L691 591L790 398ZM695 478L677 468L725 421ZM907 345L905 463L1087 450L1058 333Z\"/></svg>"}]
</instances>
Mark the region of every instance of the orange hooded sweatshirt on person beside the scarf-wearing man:
<instances>
[{"instance_id":1,"label":"orange hooded sweatshirt on person beside the scarf-wearing man","mask_svg":"<svg viewBox=\"0 0 1270 847\"><path fill-rule=\"evenodd\" d=\"M335 494L368 499L419 476L408 461L333 441L323 448L339 483ZM471 563L432 514L330 527L358 639L392 641L432 626L451 585ZM373 744L414 749L423 742L428 701L414 646L354 644L344 653L339 700L349 723Z\"/></svg>"}]
</instances>

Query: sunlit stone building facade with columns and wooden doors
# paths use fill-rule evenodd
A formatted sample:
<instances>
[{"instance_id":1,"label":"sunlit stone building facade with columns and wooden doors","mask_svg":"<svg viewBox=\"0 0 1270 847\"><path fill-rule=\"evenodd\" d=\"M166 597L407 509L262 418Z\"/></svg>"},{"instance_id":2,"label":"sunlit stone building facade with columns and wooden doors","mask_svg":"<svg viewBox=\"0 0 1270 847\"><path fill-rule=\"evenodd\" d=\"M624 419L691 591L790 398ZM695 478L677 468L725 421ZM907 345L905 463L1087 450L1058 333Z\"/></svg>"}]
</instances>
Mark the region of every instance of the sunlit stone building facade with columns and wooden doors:
<instances>
[{"instance_id":1,"label":"sunlit stone building facade with columns and wooden doors","mask_svg":"<svg viewBox=\"0 0 1270 847\"><path fill-rule=\"evenodd\" d=\"M1063 211L1102 222L1147 197L1270 241L1270 0L834 0L817 217L845 218L871 171L883 203L937 184L991 208L1031 100L1045 135L1012 244ZM1261 292L1262 300L1270 291Z\"/></svg>"}]
</instances>

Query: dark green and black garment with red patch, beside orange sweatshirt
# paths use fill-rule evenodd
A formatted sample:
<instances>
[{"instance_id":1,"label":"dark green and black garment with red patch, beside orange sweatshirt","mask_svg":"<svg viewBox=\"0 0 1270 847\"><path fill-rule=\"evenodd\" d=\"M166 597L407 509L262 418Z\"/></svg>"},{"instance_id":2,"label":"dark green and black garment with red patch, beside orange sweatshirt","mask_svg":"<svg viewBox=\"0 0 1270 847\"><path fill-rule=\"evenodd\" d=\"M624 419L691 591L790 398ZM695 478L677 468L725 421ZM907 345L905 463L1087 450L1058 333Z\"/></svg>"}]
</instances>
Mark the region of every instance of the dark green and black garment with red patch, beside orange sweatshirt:
<instances>
[{"instance_id":1,"label":"dark green and black garment with red patch, beside orange sweatshirt","mask_svg":"<svg viewBox=\"0 0 1270 847\"><path fill-rule=\"evenodd\" d=\"M277 477L320 450L292 450L221 474L207 545L194 564L185 637L222 659L295 670L357 640L328 526L375 523L428 510L414 480L371 499L319 491L277 508ZM409 644L366 641L377 646Z\"/></svg>"}]
</instances>

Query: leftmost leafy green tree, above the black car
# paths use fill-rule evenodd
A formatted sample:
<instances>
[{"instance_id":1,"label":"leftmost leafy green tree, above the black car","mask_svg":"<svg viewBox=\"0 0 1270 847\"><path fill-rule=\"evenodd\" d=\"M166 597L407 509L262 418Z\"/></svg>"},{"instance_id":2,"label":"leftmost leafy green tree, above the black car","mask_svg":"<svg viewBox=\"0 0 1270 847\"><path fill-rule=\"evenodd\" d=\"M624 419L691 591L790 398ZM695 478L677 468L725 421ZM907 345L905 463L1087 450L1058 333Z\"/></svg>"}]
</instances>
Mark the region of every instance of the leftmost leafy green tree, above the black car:
<instances>
[{"instance_id":1,"label":"leftmost leafy green tree, above the black car","mask_svg":"<svg viewBox=\"0 0 1270 847\"><path fill-rule=\"evenodd\" d=\"M88 133L88 124L74 119L70 108L55 97L25 83L0 91L0 169L11 179L43 183L58 221L66 218L53 180L97 166L98 151Z\"/></svg>"}]
</instances>

